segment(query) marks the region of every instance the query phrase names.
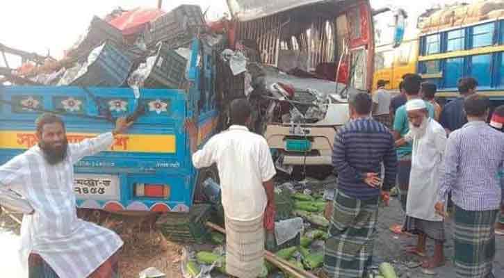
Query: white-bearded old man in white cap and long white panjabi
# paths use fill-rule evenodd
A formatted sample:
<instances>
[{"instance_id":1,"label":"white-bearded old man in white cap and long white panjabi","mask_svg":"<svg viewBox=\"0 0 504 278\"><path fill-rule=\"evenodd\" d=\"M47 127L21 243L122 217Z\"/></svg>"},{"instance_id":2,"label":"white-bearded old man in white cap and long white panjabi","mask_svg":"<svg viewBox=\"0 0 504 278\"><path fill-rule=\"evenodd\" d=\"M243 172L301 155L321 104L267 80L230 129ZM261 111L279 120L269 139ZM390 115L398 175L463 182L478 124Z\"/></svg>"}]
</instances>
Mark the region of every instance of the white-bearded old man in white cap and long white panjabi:
<instances>
[{"instance_id":1,"label":"white-bearded old man in white cap and long white panjabi","mask_svg":"<svg viewBox=\"0 0 504 278\"><path fill-rule=\"evenodd\" d=\"M408 203L405 230L418 234L416 247L408 252L425 256L425 242L435 242L434 256L423 262L423 268L436 268L444 264L444 220L435 212L438 200L439 174L446 147L446 131L441 124L428 117L427 106L421 99L406 103L409 132L396 145L413 141L412 170L409 177Z\"/></svg>"}]
</instances>

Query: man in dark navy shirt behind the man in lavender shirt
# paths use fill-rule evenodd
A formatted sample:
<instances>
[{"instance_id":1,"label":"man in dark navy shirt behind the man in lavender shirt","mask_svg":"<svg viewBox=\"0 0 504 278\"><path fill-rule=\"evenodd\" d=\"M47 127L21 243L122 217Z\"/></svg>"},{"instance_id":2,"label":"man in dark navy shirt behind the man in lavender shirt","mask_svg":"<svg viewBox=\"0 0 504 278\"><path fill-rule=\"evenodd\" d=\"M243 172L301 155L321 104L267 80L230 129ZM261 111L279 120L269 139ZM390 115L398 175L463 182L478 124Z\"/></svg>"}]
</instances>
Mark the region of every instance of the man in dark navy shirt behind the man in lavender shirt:
<instances>
[{"instance_id":1,"label":"man in dark navy shirt behind the man in lavender shirt","mask_svg":"<svg viewBox=\"0 0 504 278\"><path fill-rule=\"evenodd\" d=\"M464 112L464 99L475 94L478 81L472 77L460 79L458 82L458 90L460 97L448 102L441 111L439 124L444 127L448 135L460 129L467 123L466 113Z\"/></svg>"}]
</instances>

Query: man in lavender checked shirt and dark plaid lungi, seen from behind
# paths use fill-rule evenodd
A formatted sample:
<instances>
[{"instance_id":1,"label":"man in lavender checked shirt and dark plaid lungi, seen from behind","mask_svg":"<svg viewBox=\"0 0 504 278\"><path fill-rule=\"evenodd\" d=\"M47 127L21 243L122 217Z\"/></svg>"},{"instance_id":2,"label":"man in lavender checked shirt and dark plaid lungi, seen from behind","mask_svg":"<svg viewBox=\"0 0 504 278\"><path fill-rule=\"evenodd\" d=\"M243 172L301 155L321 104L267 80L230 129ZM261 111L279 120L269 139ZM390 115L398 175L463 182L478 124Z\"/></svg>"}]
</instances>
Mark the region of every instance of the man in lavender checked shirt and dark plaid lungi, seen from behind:
<instances>
[{"instance_id":1,"label":"man in lavender checked shirt and dark plaid lungi, seen from behind","mask_svg":"<svg viewBox=\"0 0 504 278\"><path fill-rule=\"evenodd\" d=\"M494 278L495 224L503 204L498 173L504 164L504 133L487 124L490 101L481 95L464 100L468 123L450 133L435 205L445 215L452 193L455 206L455 272L457 277Z\"/></svg>"}]
</instances>

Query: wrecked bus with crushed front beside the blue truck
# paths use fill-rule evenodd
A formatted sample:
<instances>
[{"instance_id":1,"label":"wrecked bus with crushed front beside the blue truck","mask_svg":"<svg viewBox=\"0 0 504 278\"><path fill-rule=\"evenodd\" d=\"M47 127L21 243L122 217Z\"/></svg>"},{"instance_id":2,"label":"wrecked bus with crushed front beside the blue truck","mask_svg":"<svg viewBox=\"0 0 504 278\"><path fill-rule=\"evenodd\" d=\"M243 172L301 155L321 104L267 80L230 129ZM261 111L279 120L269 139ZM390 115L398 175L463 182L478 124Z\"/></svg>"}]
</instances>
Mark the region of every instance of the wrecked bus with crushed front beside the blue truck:
<instances>
[{"instance_id":1,"label":"wrecked bus with crushed front beside the blue truck","mask_svg":"<svg viewBox=\"0 0 504 278\"><path fill-rule=\"evenodd\" d=\"M273 105L275 101L259 101L263 106L257 108L264 124L259 133L268 141L277 166L332 168L336 129L349 120L348 96L373 87L373 17L393 12L390 22L398 45L405 12L373 10L366 0L234 0L229 8L238 21L231 44L254 42L265 76L257 83L266 83L267 92L281 96ZM284 97L283 85L278 84L291 86L290 97ZM299 117L302 120L295 120Z\"/></svg>"}]
</instances>

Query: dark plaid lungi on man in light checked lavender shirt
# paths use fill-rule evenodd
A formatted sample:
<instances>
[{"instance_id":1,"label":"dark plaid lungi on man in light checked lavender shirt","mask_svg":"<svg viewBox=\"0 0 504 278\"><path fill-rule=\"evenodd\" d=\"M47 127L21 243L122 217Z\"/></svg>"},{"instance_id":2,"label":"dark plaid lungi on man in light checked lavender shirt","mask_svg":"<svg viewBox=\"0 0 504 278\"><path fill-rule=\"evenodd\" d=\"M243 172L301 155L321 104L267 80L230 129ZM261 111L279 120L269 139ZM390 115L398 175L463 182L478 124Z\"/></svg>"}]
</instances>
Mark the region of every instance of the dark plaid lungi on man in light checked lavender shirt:
<instances>
[{"instance_id":1,"label":"dark plaid lungi on man in light checked lavender shirt","mask_svg":"<svg viewBox=\"0 0 504 278\"><path fill-rule=\"evenodd\" d=\"M465 211L455 205L455 272L458 278L494 278L498 210Z\"/></svg>"}]
</instances>

